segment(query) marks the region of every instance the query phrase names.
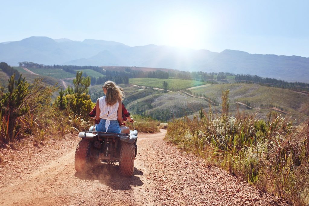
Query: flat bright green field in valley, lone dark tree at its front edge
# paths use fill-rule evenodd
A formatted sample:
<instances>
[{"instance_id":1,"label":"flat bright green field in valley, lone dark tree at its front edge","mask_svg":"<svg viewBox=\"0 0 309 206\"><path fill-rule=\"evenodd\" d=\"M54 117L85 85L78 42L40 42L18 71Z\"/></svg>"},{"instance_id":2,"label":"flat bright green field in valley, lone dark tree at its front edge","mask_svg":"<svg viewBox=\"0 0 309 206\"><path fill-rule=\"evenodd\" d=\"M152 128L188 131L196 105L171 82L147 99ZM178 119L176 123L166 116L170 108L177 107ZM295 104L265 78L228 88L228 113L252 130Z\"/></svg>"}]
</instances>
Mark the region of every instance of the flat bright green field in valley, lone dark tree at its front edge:
<instances>
[{"instance_id":1,"label":"flat bright green field in valley, lone dark tree at its front edge","mask_svg":"<svg viewBox=\"0 0 309 206\"><path fill-rule=\"evenodd\" d=\"M205 82L185 79L157 79L157 78L134 78L129 79L130 84L138 86L156 87L163 89L163 82L167 82L167 89L171 91L179 91L193 86L206 84Z\"/></svg>"}]
</instances>

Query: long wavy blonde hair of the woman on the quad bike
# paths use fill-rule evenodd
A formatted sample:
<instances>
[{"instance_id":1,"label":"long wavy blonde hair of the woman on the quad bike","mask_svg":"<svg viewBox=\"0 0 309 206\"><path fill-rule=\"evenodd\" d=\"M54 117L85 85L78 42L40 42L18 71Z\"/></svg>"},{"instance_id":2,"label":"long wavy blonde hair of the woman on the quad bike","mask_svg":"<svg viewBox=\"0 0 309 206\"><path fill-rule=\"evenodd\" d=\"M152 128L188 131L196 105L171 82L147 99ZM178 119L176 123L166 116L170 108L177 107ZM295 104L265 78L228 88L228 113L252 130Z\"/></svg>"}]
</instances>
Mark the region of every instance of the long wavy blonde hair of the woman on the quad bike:
<instances>
[{"instance_id":1,"label":"long wavy blonde hair of the woman on the quad bike","mask_svg":"<svg viewBox=\"0 0 309 206\"><path fill-rule=\"evenodd\" d=\"M105 101L108 106L112 106L116 104L118 100L123 99L124 94L123 91L121 91L122 88L117 86L115 82L106 81L102 88L107 90Z\"/></svg>"}]
</instances>

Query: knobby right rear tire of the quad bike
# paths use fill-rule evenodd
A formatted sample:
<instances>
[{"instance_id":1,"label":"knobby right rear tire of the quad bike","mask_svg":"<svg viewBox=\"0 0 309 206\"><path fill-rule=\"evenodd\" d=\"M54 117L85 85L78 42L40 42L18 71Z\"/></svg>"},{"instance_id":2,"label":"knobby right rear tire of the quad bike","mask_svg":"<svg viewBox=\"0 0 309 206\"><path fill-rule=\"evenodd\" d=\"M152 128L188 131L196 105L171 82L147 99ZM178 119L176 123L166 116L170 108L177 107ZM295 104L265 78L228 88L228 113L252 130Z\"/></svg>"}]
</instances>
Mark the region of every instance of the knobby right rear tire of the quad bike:
<instances>
[{"instance_id":1,"label":"knobby right rear tire of the quad bike","mask_svg":"<svg viewBox=\"0 0 309 206\"><path fill-rule=\"evenodd\" d=\"M120 174L130 177L134 172L135 145L121 142L119 170Z\"/></svg>"}]
</instances>

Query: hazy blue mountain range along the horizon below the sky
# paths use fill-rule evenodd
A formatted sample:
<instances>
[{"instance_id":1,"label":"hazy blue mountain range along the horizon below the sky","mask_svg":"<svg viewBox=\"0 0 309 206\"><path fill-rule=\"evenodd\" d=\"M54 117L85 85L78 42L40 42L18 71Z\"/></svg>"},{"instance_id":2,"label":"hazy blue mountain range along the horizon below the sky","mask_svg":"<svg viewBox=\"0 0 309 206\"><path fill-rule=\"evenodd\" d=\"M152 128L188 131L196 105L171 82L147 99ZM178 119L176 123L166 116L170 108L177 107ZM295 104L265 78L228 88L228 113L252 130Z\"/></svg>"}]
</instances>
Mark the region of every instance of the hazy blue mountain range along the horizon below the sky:
<instances>
[{"instance_id":1,"label":"hazy blue mountain range along the horizon below the sky","mask_svg":"<svg viewBox=\"0 0 309 206\"><path fill-rule=\"evenodd\" d=\"M45 65L138 66L185 71L230 72L309 83L309 58L243 51L176 48L149 44L130 47L115 41L73 41L32 36L0 43L0 61Z\"/></svg>"}]
</instances>

